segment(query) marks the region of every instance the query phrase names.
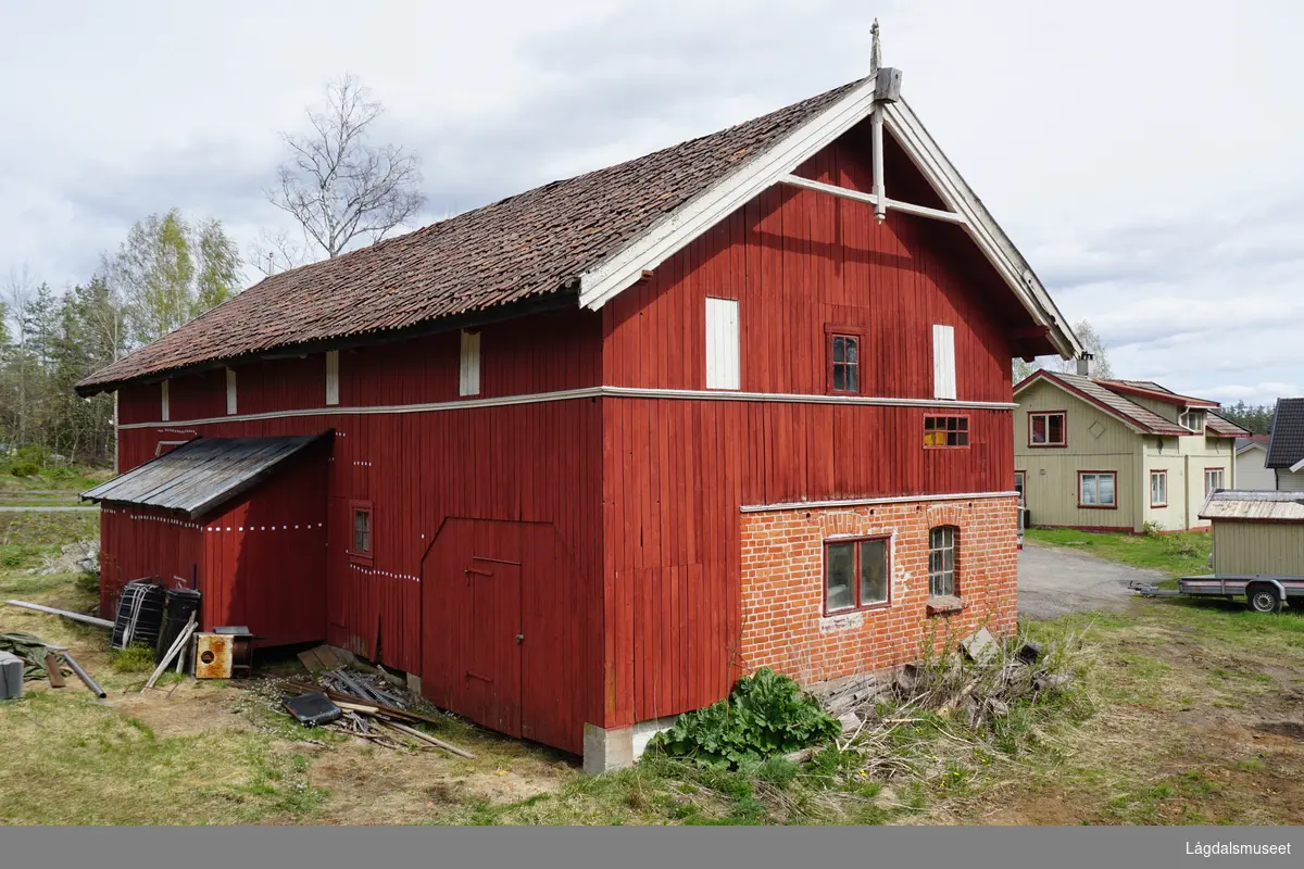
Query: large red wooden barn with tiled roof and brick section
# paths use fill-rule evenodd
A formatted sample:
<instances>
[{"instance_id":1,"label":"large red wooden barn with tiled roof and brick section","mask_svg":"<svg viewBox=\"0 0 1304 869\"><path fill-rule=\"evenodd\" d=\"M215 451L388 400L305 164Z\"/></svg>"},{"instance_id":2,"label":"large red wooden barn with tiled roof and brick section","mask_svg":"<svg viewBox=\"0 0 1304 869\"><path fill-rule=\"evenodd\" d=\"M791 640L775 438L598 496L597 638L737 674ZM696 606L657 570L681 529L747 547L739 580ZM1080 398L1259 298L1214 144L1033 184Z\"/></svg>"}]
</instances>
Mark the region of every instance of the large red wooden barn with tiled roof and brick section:
<instances>
[{"instance_id":1,"label":"large red wooden barn with tiled roof and brick section","mask_svg":"<svg viewBox=\"0 0 1304 869\"><path fill-rule=\"evenodd\" d=\"M1013 629L1011 357L1080 347L898 87L271 276L87 378L124 470L193 438L327 453L244 492L243 537L106 498L106 589L265 547L205 624L325 638L589 769L763 664Z\"/></svg>"}]
</instances>

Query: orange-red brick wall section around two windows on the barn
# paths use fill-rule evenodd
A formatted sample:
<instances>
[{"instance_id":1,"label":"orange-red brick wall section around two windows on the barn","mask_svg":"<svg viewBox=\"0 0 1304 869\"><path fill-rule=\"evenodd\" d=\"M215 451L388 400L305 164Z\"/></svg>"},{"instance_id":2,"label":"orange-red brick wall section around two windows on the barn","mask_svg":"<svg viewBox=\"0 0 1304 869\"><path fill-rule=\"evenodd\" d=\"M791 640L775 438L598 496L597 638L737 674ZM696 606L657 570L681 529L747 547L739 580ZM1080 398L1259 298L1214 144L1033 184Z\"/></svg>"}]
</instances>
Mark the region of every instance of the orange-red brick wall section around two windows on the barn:
<instances>
[{"instance_id":1,"label":"orange-red brick wall section around two windows on the barn","mask_svg":"<svg viewBox=\"0 0 1304 869\"><path fill-rule=\"evenodd\" d=\"M958 641L1017 618L1015 498L777 509L742 515L746 670L768 666L803 683L917 661L922 644ZM965 608L928 615L928 529L958 533L957 594ZM892 535L891 606L825 618L824 541Z\"/></svg>"}]
</instances>

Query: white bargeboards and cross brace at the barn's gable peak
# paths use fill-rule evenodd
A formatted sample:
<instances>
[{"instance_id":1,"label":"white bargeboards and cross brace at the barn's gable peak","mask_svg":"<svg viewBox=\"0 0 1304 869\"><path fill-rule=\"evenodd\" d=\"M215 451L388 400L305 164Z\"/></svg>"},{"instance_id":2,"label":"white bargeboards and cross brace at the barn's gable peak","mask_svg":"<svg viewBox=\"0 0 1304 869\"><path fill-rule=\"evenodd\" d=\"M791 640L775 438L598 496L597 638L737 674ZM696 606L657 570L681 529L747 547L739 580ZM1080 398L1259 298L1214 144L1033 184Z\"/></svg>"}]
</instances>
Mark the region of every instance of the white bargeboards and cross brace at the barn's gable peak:
<instances>
[{"instance_id":1,"label":"white bargeboards and cross brace at the barn's gable peak","mask_svg":"<svg viewBox=\"0 0 1304 869\"><path fill-rule=\"evenodd\" d=\"M888 73L885 69L884 73ZM818 154L853 126L871 117L878 107L882 122L910 156L947 210L928 208L888 199L885 195L846 190L792 175L798 165ZM879 149L875 149L879 151ZM882 160L882 152L879 163ZM875 167L879 168L879 167ZM882 189L882 172L876 189ZM1042 287L1028 262L1005 232L974 195L969 185L941 152L932 137L904 100L875 99L875 77L866 78L827 109L802 124L769 150L743 164L715 186L685 203L660 223L652 225L608 259L580 275L579 304L599 309L618 293L632 287L643 272L686 248L694 238L737 211L746 202L775 184L829 193L875 206L882 214L895 208L921 218L945 220L965 229L1005 284L1038 326L1050 328L1050 340L1060 356L1072 358L1082 352L1063 314ZM880 202L882 199L882 202Z\"/></svg>"}]
</instances>

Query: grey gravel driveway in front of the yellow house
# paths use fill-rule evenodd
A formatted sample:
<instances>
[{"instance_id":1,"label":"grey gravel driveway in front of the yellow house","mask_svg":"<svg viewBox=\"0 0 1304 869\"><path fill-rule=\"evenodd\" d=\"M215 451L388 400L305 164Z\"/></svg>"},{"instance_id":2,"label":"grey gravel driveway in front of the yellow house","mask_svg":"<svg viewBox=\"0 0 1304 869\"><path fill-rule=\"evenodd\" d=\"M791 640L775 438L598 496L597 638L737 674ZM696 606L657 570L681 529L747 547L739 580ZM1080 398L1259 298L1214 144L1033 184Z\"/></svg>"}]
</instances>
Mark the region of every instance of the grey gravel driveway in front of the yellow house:
<instances>
[{"instance_id":1,"label":"grey gravel driveway in front of the yellow house","mask_svg":"<svg viewBox=\"0 0 1304 869\"><path fill-rule=\"evenodd\" d=\"M1121 610L1132 599L1128 584L1168 578L1107 562L1063 546L1025 542L1018 554L1018 615L1054 619L1065 612Z\"/></svg>"}]
</instances>

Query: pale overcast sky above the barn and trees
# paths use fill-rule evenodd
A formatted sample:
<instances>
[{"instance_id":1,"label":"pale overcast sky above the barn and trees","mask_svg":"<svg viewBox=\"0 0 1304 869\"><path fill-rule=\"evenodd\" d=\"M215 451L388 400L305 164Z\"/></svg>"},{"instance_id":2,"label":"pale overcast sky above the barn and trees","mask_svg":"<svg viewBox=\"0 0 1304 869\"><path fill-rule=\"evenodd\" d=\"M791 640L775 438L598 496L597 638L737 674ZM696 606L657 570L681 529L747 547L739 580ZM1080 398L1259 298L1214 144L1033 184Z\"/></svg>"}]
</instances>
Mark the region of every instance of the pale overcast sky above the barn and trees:
<instances>
[{"instance_id":1,"label":"pale overcast sky above the barn and trees","mask_svg":"<svg viewBox=\"0 0 1304 869\"><path fill-rule=\"evenodd\" d=\"M0 275L86 280L172 206L246 249L282 220L279 132L346 72L420 155L429 223L859 78L878 16L911 107L1118 375L1300 393L1304 4L1068 5L4 3Z\"/></svg>"}]
</instances>

